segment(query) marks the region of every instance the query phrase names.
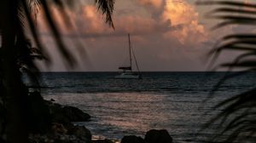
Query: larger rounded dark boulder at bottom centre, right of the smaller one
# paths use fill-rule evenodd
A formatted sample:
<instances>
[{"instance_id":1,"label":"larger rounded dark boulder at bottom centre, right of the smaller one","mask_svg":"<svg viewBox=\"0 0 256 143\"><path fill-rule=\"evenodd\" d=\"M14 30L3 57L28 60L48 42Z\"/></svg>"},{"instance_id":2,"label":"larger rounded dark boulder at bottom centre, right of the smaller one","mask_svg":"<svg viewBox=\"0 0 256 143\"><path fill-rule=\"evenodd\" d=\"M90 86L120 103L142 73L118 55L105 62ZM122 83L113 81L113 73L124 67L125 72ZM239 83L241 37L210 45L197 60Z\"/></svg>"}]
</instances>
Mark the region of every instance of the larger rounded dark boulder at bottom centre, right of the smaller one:
<instances>
[{"instance_id":1,"label":"larger rounded dark boulder at bottom centre, right of the smaller one","mask_svg":"<svg viewBox=\"0 0 256 143\"><path fill-rule=\"evenodd\" d=\"M172 137L166 129L152 129L145 135L145 140L148 143L173 143Z\"/></svg>"}]
</instances>

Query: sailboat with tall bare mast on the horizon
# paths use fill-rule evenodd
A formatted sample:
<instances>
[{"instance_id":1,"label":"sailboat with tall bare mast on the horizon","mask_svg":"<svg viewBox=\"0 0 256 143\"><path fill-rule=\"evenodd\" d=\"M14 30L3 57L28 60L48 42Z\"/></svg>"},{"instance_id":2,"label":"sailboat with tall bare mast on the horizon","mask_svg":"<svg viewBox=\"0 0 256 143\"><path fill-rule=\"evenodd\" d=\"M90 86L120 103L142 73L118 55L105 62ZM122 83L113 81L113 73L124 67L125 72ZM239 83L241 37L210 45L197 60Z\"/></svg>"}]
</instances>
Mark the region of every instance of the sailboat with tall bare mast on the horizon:
<instances>
[{"instance_id":1,"label":"sailboat with tall bare mast on the horizon","mask_svg":"<svg viewBox=\"0 0 256 143\"><path fill-rule=\"evenodd\" d=\"M138 65L137 65L137 60L134 54L133 49L131 48L131 39L130 39L130 34L128 34L128 42L129 42L129 66L120 66L119 70L122 70L122 72L118 75L115 76L115 78L122 78L122 79L141 79L142 74L139 71ZM132 70L132 57L135 60L135 64L137 67L137 72L134 72Z\"/></svg>"}]
</instances>

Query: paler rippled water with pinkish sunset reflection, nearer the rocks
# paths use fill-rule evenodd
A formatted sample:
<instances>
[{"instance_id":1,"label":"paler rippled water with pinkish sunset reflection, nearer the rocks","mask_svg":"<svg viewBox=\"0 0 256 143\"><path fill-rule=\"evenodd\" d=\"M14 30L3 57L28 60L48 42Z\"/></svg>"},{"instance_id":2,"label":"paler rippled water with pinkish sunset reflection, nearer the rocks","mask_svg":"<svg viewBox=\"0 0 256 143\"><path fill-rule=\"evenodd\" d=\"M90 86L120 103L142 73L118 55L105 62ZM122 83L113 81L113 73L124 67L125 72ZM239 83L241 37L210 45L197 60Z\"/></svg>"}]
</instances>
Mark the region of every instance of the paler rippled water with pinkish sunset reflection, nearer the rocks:
<instances>
[{"instance_id":1,"label":"paler rippled water with pinkish sunset reflection, nearer the rocks","mask_svg":"<svg viewBox=\"0 0 256 143\"><path fill-rule=\"evenodd\" d=\"M148 93L59 94L46 100L77 106L88 112L85 125L93 134L120 140L124 135L143 136L149 129L167 129L175 140L191 140L209 116L199 96Z\"/></svg>"}]
</instances>

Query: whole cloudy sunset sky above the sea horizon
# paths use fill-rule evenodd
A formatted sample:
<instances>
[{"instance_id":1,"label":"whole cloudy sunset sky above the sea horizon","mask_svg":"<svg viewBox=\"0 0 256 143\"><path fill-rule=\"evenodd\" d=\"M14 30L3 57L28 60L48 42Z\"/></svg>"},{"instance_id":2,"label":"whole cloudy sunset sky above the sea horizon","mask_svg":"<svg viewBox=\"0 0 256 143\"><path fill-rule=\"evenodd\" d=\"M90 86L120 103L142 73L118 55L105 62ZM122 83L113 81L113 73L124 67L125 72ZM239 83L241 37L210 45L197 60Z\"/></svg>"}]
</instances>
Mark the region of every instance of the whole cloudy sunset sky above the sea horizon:
<instances>
[{"instance_id":1,"label":"whole cloudy sunset sky above the sea horizon","mask_svg":"<svg viewBox=\"0 0 256 143\"><path fill-rule=\"evenodd\" d=\"M130 33L141 71L209 71L207 52L213 44L227 33L244 30L229 26L211 31L218 21L204 16L210 9L212 6L195 5L195 0L116 0L113 30L93 0L67 9L73 28L65 25L66 21L61 20L61 14L53 6L56 24L78 65L67 68L44 23L44 14L38 15L38 28L53 62L50 66L38 64L42 71L51 72L116 72L119 66L128 63ZM224 54L219 61L230 60L233 55Z\"/></svg>"}]
</instances>

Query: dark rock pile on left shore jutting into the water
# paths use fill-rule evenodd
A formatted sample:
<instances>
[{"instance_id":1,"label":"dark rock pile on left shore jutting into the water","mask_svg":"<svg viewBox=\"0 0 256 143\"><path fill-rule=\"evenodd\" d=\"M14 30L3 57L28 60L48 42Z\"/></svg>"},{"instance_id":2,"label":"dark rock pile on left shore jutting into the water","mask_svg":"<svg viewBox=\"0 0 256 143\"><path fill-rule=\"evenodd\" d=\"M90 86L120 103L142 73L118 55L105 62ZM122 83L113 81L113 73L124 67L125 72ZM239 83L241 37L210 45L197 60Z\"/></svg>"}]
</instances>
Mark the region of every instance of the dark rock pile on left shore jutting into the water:
<instances>
[{"instance_id":1,"label":"dark rock pile on left shore jutting into the water","mask_svg":"<svg viewBox=\"0 0 256 143\"><path fill-rule=\"evenodd\" d=\"M72 123L88 121L90 115L87 113L73 106L61 106L44 100L38 92L31 93L29 101L32 112L32 116L28 117L32 128L29 143L91 142L90 130L84 126L74 126Z\"/></svg>"}]
</instances>

